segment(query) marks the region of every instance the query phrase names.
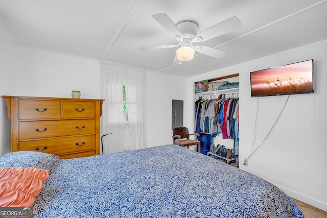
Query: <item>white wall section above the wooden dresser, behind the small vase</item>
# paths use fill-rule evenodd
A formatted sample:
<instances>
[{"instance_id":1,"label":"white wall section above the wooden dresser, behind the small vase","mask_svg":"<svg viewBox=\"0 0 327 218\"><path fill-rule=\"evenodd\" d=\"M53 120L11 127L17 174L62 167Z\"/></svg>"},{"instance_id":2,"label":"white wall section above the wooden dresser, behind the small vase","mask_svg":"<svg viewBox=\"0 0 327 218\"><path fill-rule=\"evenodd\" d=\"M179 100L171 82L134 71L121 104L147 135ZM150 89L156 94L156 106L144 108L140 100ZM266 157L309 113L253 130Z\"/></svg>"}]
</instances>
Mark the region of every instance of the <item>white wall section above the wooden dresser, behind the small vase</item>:
<instances>
[{"instance_id":1,"label":"white wall section above the wooden dresser, behind the small vase","mask_svg":"<svg viewBox=\"0 0 327 218\"><path fill-rule=\"evenodd\" d=\"M72 98L80 90L83 99L99 99L99 63L75 56L18 47L16 94Z\"/></svg>"}]
</instances>

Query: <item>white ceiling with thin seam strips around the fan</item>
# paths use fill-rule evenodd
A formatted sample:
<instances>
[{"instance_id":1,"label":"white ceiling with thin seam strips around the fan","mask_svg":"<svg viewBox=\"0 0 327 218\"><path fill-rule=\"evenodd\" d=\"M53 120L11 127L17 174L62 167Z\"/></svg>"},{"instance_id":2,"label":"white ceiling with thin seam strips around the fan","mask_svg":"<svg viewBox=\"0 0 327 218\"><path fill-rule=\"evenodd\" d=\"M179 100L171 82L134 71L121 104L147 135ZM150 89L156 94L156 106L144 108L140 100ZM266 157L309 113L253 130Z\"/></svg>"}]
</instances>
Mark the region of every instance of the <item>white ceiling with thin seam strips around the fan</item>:
<instances>
[{"instance_id":1,"label":"white ceiling with thin seam strips around the fan","mask_svg":"<svg viewBox=\"0 0 327 218\"><path fill-rule=\"evenodd\" d=\"M201 32L232 16L241 28L202 45L227 52L173 64L177 44L152 17L193 20ZM0 26L19 46L190 77L327 39L327 0L0 0Z\"/></svg>"}]
</instances>

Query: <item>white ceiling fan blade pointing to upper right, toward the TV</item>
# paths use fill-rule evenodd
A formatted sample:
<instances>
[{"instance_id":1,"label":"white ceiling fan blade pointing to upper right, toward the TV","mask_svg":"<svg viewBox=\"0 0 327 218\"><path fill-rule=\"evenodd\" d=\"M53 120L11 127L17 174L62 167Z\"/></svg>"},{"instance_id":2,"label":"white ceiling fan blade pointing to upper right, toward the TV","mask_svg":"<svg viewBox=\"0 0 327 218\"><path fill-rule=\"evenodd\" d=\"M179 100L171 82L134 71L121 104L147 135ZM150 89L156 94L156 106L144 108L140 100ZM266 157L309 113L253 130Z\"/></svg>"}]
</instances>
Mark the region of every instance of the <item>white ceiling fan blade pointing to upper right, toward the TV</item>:
<instances>
[{"instance_id":1,"label":"white ceiling fan blade pointing to upper right, toward the TV","mask_svg":"<svg viewBox=\"0 0 327 218\"><path fill-rule=\"evenodd\" d=\"M199 33L194 41L206 41L221 36L241 27L241 21L237 17L231 17Z\"/></svg>"}]
</instances>

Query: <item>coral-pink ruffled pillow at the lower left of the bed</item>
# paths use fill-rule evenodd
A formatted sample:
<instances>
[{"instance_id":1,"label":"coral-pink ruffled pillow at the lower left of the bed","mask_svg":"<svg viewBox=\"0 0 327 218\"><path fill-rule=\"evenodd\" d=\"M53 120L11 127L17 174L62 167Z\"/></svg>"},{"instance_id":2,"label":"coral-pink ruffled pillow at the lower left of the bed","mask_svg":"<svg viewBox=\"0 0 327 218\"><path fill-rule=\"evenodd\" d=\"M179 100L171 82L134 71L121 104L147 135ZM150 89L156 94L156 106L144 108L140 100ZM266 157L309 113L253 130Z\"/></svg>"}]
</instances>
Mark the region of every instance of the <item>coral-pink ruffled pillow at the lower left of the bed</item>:
<instances>
[{"instance_id":1,"label":"coral-pink ruffled pillow at the lower left of the bed","mask_svg":"<svg viewBox=\"0 0 327 218\"><path fill-rule=\"evenodd\" d=\"M0 167L0 207L31 207L48 178L48 169Z\"/></svg>"}]
</instances>

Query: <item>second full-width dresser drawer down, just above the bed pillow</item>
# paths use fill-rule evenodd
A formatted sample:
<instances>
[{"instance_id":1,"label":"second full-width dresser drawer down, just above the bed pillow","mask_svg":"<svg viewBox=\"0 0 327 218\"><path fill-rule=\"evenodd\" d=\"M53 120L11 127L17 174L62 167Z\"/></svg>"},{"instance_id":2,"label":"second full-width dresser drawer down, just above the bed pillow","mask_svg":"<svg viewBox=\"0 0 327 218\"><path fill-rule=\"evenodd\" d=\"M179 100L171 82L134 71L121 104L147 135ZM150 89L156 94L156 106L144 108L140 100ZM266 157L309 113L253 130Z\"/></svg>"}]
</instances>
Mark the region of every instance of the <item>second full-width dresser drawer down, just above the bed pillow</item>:
<instances>
[{"instance_id":1,"label":"second full-width dresser drawer down, just above the bed pillow","mask_svg":"<svg viewBox=\"0 0 327 218\"><path fill-rule=\"evenodd\" d=\"M19 151L38 151L54 155L95 150L95 147L95 135L19 142Z\"/></svg>"}]
</instances>

